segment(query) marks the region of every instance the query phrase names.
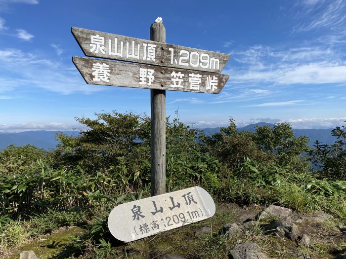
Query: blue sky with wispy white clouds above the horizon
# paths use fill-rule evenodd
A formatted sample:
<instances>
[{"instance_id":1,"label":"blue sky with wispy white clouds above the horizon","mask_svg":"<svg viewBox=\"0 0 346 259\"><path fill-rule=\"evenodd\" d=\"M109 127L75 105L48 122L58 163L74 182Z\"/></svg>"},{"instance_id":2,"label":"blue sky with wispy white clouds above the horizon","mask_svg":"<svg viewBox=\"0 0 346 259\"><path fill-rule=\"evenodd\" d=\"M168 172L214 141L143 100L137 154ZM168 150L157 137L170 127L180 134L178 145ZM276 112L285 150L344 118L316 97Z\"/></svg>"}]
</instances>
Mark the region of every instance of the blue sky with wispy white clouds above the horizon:
<instances>
[{"instance_id":1,"label":"blue sky with wispy white clouds above the horizon","mask_svg":"<svg viewBox=\"0 0 346 259\"><path fill-rule=\"evenodd\" d=\"M0 131L79 128L95 112L150 114L150 91L87 85L71 27L231 54L220 94L166 92L167 115L195 127L346 120L346 1L0 0Z\"/></svg>"}]
</instances>

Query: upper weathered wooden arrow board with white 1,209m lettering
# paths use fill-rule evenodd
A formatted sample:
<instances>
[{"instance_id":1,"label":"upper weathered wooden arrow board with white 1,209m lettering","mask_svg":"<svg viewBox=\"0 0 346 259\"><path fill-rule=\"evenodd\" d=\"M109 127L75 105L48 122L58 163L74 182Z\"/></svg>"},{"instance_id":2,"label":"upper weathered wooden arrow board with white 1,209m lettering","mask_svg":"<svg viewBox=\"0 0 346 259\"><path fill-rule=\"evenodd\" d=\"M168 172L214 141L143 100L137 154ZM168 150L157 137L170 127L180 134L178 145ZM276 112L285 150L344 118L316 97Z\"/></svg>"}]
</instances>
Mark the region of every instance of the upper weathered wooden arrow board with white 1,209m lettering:
<instances>
[{"instance_id":1,"label":"upper weathered wooden arrow board with white 1,209m lettering","mask_svg":"<svg viewBox=\"0 0 346 259\"><path fill-rule=\"evenodd\" d=\"M214 73L221 72L230 57L229 54L76 27L71 31L89 57Z\"/></svg>"}]
</instances>

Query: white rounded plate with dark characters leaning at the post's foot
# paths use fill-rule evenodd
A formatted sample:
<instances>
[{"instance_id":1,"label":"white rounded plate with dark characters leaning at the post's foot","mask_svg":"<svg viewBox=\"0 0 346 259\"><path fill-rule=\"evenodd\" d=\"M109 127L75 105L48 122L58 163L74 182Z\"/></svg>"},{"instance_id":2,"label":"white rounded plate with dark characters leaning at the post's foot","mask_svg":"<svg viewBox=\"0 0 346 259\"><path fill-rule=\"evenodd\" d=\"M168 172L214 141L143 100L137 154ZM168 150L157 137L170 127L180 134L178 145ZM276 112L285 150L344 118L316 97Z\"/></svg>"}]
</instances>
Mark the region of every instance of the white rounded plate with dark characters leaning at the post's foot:
<instances>
[{"instance_id":1,"label":"white rounded plate with dark characters leaning at the post's foot","mask_svg":"<svg viewBox=\"0 0 346 259\"><path fill-rule=\"evenodd\" d=\"M213 198L205 189L195 186L121 204L109 214L108 228L118 240L130 242L214 214Z\"/></svg>"}]
</instances>

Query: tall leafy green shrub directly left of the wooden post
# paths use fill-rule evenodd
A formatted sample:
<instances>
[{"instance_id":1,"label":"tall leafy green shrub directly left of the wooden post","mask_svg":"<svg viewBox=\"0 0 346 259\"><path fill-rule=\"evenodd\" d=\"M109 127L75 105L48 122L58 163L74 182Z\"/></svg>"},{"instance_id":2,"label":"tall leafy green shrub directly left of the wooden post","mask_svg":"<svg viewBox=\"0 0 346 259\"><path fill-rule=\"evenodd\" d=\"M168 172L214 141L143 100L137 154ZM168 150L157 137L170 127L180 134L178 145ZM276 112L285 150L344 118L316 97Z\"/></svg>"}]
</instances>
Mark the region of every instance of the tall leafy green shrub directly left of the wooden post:
<instances>
[{"instance_id":1,"label":"tall leafy green shrub directly left of the wooden post","mask_svg":"<svg viewBox=\"0 0 346 259\"><path fill-rule=\"evenodd\" d=\"M116 174L124 187L140 186L146 180L139 176L142 161L150 159L150 119L131 112L95 115L96 119L77 118L89 128L80 136L58 135L60 144L54 154L54 166L79 165L88 174Z\"/></svg>"}]
</instances>

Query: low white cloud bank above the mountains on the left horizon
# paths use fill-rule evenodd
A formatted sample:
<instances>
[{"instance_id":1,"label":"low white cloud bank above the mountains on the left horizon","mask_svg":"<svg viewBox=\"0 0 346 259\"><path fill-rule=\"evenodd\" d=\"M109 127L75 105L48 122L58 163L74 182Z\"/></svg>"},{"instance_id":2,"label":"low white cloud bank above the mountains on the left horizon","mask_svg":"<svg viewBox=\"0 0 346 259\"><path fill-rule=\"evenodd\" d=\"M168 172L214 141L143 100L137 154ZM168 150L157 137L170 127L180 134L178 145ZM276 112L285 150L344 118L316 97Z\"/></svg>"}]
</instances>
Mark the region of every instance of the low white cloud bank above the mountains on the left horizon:
<instances>
[{"instance_id":1,"label":"low white cloud bank above the mountains on the left horizon","mask_svg":"<svg viewBox=\"0 0 346 259\"><path fill-rule=\"evenodd\" d=\"M86 126L81 124L68 124L62 122L27 122L21 124L0 124L0 132L23 132L28 130L51 130L63 131L73 129L87 129Z\"/></svg>"}]
</instances>

